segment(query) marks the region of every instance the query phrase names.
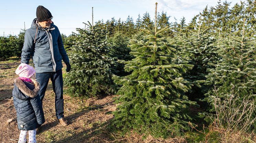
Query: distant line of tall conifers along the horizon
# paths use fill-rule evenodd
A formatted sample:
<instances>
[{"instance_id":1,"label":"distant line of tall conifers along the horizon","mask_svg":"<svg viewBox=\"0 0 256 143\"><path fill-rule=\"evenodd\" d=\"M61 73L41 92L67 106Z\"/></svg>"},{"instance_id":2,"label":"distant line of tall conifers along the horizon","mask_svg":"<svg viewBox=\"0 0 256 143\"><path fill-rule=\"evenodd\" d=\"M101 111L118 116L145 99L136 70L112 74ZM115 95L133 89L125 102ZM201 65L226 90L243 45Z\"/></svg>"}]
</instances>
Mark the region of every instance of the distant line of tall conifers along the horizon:
<instances>
[{"instance_id":1,"label":"distant line of tall conifers along the horizon","mask_svg":"<svg viewBox=\"0 0 256 143\"><path fill-rule=\"evenodd\" d=\"M241 18L246 18L247 33L253 34L255 31L255 1L246 0L245 2L236 3L230 8L229 2L218 2L217 6L205 9L194 18L190 20L188 24L185 23L185 17L175 22L169 22L171 16L166 12L158 13L157 15L157 27L170 27L171 30L166 31L165 35L173 37L174 32L182 32L188 34L189 30L193 30L196 23L200 20L202 27L208 27L212 35L218 35L220 32L234 32L241 30ZM149 13L146 12L142 16L139 14L138 18L134 22L133 18L128 16L126 21L115 19L114 17L106 22L100 21L102 29L107 30L106 38L111 38L115 34L121 34L127 38L132 38L134 34L137 34L141 29L150 29L154 27L154 21L151 20ZM21 49L24 41L24 30L22 30L18 36L9 35L7 37L0 37L0 60L5 60L12 56L20 56ZM63 35L63 44L69 49L75 40L76 34Z\"/></svg>"}]
</instances>

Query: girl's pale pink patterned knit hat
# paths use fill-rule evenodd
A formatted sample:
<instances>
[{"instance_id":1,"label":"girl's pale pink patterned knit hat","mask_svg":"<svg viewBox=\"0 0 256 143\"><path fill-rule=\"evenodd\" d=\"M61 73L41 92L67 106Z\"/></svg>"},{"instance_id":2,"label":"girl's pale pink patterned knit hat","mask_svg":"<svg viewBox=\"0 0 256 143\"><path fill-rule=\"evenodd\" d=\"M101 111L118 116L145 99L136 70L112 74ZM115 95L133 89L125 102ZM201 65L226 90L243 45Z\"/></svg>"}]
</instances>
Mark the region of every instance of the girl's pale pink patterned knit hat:
<instances>
[{"instance_id":1,"label":"girl's pale pink patterned knit hat","mask_svg":"<svg viewBox=\"0 0 256 143\"><path fill-rule=\"evenodd\" d=\"M21 63L19 67L16 69L15 73L18 74L20 77L30 78L33 74L35 74L35 70L30 65L26 63Z\"/></svg>"}]
</instances>

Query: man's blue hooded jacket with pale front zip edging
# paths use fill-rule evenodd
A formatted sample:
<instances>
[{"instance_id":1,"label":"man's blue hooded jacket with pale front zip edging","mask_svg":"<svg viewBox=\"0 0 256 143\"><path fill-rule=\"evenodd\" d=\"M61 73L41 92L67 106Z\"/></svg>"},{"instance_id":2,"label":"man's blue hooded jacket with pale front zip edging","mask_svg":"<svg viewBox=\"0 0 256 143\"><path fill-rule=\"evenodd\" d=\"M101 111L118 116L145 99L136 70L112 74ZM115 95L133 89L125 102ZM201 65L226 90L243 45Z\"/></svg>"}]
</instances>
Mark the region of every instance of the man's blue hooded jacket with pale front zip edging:
<instances>
[{"instance_id":1,"label":"man's blue hooded jacket with pale front zip edging","mask_svg":"<svg viewBox=\"0 0 256 143\"><path fill-rule=\"evenodd\" d=\"M33 20L25 32L21 62L28 64L31 56L37 73L56 72L63 67L62 59L69 62L57 26L51 23L50 28L43 28L36 18Z\"/></svg>"}]
</instances>

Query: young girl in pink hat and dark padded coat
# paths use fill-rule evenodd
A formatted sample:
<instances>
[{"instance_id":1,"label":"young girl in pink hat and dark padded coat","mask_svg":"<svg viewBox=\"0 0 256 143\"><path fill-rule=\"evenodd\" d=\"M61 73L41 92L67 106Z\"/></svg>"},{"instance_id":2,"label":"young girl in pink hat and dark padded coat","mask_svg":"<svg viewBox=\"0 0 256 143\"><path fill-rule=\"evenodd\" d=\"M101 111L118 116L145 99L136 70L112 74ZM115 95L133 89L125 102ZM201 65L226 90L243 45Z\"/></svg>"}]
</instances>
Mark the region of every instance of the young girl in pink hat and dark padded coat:
<instances>
[{"instance_id":1,"label":"young girl in pink hat and dark padded coat","mask_svg":"<svg viewBox=\"0 0 256 143\"><path fill-rule=\"evenodd\" d=\"M26 143L27 132L28 143L36 143L36 128L45 122L42 102L37 96L40 85L33 79L34 68L25 63L21 63L15 73L19 77L14 80L12 96L21 130L18 143Z\"/></svg>"}]
</instances>

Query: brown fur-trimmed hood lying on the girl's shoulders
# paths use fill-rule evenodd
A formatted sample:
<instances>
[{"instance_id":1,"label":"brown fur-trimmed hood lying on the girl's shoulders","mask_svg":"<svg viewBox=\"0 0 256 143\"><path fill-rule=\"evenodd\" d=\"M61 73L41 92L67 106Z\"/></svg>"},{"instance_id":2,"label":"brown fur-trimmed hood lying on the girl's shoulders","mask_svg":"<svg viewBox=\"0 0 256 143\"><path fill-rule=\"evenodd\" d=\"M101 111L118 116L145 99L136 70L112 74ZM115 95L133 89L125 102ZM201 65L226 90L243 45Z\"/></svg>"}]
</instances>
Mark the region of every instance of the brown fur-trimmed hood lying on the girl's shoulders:
<instances>
[{"instance_id":1,"label":"brown fur-trimmed hood lying on the girl's shoulders","mask_svg":"<svg viewBox=\"0 0 256 143\"><path fill-rule=\"evenodd\" d=\"M19 77L14 80L14 83L26 96L34 98L38 95L40 85L38 85L34 90L31 90L25 85L25 83Z\"/></svg>"}]
</instances>

